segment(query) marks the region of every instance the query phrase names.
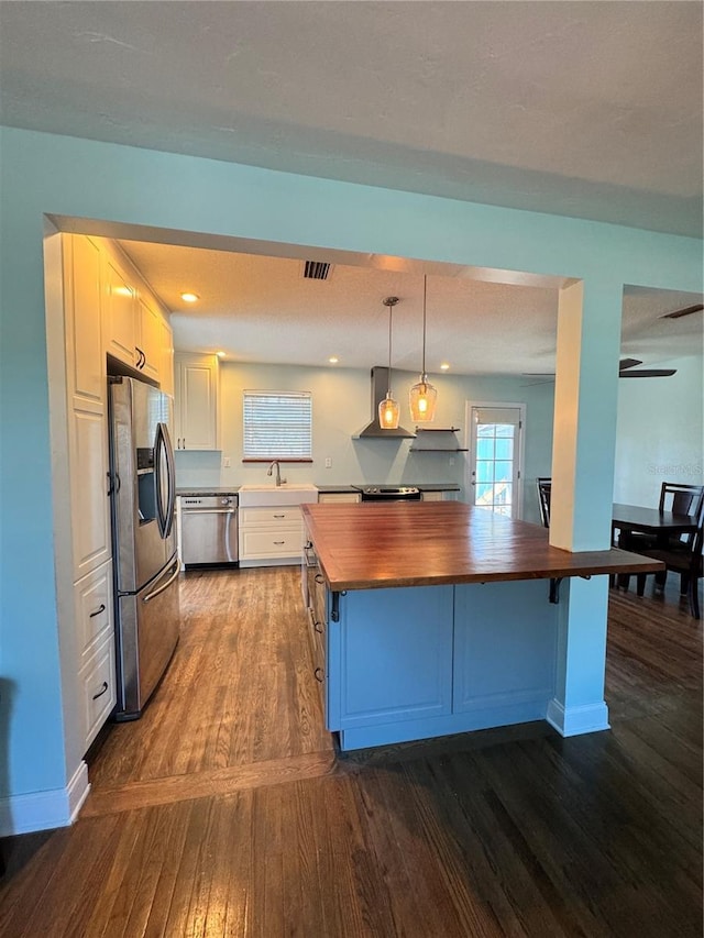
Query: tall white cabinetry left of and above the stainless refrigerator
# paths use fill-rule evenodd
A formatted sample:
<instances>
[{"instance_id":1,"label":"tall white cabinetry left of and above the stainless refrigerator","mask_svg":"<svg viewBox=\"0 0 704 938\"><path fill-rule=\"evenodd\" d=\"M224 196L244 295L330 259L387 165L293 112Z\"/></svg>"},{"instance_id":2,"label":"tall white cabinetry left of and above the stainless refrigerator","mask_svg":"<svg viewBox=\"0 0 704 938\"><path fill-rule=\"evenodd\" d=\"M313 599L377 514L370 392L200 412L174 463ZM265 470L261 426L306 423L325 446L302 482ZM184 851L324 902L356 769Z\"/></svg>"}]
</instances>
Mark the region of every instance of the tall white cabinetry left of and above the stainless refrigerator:
<instances>
[{"instance_id":1,"label":"tall white cabinetry left of and above the stainless refrigerator","mask_svg":"<svg viewBox=\"0 0 704 938\"><path fill-rule=\"evenodd\" d=\"M63 324L65 357L56 374L65 378L65 401L53 432L67 492L57 497L68 501L57 516L57 594L75 724L67 733L72 749L85 753L117 700L107 356L172 390L173 342L156 299L113 244L78 234L56 239L61 269L47 307Z\"/></svg>"}]
</instances>

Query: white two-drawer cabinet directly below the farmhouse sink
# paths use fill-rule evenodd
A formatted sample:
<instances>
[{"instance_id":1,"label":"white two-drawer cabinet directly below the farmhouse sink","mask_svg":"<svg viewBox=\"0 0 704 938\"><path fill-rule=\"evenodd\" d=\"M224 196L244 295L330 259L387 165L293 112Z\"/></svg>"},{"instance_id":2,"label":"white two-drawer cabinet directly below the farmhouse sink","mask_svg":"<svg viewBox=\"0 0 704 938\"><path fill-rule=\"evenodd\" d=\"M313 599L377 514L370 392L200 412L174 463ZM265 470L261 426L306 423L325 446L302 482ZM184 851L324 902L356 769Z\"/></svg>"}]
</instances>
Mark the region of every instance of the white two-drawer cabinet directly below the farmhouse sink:
<instances>
[{"instance_id":1,"label":"white two-drawer cabinet directly below the farmhouse sink","mask_svg":"<svg viewBox=\"0 0 704 938\"><path fill-rule=\"evenodd\" d=\"M239 538L240 566L300 563L300 508L241 508Z\"/></svg>"}]
</instances>

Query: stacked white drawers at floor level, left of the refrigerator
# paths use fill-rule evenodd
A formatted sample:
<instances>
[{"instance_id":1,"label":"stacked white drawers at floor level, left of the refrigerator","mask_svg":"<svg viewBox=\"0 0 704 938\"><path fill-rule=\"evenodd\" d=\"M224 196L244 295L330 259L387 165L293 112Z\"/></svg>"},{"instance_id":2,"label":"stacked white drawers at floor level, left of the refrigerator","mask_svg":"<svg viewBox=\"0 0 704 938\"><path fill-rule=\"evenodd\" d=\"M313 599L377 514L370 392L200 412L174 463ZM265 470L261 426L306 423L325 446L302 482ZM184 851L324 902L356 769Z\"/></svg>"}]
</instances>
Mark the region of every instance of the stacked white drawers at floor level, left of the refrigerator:
<instances>
[{"instance_id":1,"label":"stacked white drawers at floor level, left of the refrigerator","mask_svg":"<svg viewBox=\"0 0 704 938\"><path fill-rule=\"evenodd\" d=\"M88 749L117 703L112 561L74 584L82 733Z\"/></svg>"}]
</instances>

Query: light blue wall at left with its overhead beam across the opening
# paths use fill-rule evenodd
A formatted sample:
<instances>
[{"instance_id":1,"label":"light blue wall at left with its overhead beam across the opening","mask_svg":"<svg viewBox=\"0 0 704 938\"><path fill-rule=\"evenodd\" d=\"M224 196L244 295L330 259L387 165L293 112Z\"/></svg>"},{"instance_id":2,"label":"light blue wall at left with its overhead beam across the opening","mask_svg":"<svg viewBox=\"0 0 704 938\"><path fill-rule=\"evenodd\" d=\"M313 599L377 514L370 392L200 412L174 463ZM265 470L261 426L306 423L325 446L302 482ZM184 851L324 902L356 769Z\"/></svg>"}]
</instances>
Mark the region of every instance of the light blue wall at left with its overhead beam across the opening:
<instances>
[{"instance_id":1,"label":"light blue wall at left with its overhead beam across the opening","mask_svg":"<svg viewBox=\"0 0 704 938\"><path fill-rule=\"evenodd\" d=\"M11 708L12 795L65 786L76 769L61 725L52 499L65 494L50 473L44 213L583 277L614 295L614 284L702 288L692 239L14 129L0 147L0 706ZM608 457L613 437L601 445ZM610 475L591 484L610 498Z\"/></svg>"}]
</instances>

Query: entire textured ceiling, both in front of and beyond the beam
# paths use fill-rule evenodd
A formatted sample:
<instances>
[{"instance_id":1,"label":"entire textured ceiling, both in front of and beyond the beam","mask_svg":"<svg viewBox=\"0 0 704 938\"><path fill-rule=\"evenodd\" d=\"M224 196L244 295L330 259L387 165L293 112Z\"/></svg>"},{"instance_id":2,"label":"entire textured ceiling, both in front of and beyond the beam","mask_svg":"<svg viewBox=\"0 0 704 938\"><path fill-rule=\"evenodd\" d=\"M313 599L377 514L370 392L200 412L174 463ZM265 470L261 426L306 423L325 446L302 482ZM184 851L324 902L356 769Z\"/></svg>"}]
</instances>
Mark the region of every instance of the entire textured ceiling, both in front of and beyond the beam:
<instances>
[{"instance_id":1,"label":"entire textured ceiling, both in front of and beyond the beam","mask_svg":"<svg viewBox=\"0 0 704 938\"><path fill-rule=\"evenodd\" d=\"M3 123L701 235L700 2L0 2ZM556 288L158 244L128 253L178 347L242 361L549 371ZM274 252L276 253L276 252ZM315 258L319 260L319 258ZM197 309L178 295L194 289ZM624 354L700 352L696 297L634 290Z\"/></svg>"}]
</instances>

